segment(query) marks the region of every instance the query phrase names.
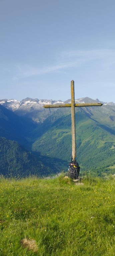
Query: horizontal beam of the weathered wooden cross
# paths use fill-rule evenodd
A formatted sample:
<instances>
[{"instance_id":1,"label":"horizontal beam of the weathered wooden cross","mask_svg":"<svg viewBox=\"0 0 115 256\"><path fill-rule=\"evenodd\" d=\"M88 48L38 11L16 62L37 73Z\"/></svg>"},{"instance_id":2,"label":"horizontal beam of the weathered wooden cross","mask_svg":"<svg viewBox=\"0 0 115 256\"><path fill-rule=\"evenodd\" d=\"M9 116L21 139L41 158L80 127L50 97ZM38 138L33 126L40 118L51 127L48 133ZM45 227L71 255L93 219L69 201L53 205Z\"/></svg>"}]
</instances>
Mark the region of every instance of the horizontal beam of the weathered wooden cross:
<instances>
[{"instance_id":1,"label":"horizontal beam of the weathered wooden cross","mask_svg":"<svg viewBox=\"0 0 115 256\"><path fill-rule=\"evenodd\" d=\"M102 106L102 103L77 103L75 107L93 107L93 106ZM54 104L54 105L44 105L44 108L66 108L71 107L71 104Z\"/></svg>"}]
</instances>

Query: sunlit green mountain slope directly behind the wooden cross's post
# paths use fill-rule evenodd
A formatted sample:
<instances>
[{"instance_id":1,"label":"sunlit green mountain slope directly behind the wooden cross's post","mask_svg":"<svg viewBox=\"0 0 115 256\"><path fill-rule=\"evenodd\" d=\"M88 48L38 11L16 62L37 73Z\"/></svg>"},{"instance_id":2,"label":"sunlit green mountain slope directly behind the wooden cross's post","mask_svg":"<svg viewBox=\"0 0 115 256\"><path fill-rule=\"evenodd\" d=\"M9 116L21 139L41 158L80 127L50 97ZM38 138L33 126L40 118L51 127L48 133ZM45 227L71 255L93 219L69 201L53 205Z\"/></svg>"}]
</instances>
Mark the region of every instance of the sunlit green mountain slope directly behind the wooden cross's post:
<instances>
[{"instance_id":1,"label":"sunlit green mountain slope directly behind the wooden cross's post","mask_svg":"<svg viewBox=\"0 0 115 256\"><path fill-rule=\"evenodd\" d=\"M115 135L106 125L101 125L86 113L76 113L77 160L81 170L100 174L115 164ZM38 146L39 145L39 146ZM71 159L71 115L61 117L45 131L32 146L42 155L66 160ZM67 168L65 166L65 168ZM113 170L115 171L115 170Z\"/></svg>"}]
</instances>

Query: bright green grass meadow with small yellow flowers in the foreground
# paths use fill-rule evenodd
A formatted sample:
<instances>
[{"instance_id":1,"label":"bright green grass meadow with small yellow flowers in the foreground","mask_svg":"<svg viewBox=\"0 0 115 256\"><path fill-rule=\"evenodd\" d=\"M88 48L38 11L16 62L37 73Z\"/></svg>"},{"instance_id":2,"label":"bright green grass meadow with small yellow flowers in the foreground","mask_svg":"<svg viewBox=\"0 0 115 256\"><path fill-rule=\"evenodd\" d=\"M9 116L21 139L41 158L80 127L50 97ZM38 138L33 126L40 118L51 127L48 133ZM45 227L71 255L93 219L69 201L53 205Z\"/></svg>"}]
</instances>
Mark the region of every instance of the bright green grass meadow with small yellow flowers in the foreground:
<instances>
[{"instance_id":1,"label":"bright green grass meadow with small yellow flowers in the foreground","mask_svg":"<svg viewBox=\"0 0 115 256\"><path fill-rule=\"evenodd\" d=\"M0 179L1 256L114 256L115 179ZM38 250L23 248L34 239Z\"/></svg>"}]
</instances>

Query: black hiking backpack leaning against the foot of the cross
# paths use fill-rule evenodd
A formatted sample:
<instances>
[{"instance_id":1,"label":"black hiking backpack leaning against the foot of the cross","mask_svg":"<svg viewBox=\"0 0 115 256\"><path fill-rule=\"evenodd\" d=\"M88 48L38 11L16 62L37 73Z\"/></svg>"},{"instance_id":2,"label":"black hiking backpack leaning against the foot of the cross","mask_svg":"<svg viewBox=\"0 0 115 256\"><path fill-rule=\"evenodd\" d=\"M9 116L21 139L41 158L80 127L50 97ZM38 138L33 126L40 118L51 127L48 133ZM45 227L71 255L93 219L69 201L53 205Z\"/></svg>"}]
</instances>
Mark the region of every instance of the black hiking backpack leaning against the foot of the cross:
<instances>
[{"instance_id":1,"label":"black hiking backpack leaning against the foot of the cross","mask_svg":"<svg viewBox=\"0 0 115 256\"><path fill-rule=\"evenodd\" d=\"M74 161L71 161L69 163L68 172L70 173L70 175L69 175L70 178L71 179L78 179L79 171L80 171L80 166L79 166L78 162L76 161L76 159L74 159Z\"/></svg>"}]
</instances>

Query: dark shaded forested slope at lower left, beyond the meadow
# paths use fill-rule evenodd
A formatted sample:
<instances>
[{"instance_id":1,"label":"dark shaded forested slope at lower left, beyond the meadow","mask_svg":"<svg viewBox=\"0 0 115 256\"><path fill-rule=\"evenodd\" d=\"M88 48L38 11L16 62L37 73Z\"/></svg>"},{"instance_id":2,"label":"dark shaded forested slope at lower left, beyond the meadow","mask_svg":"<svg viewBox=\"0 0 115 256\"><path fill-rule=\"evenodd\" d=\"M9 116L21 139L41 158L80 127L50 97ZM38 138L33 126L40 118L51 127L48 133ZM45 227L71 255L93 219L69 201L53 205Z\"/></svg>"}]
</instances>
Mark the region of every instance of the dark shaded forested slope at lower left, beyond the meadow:
<instances>
[{"instance_id":1,"label":"dark shaded forested slope at lower left, beyond the meadow","mask_svg":"<svg viewBox=\"0 0 115 256\"><path fill-rule=\"evenodd\" d=\"M51 173L51 169L18 142L0 137L0 173L8 177L42 176Z\"/></svg>"}]
</instances>

